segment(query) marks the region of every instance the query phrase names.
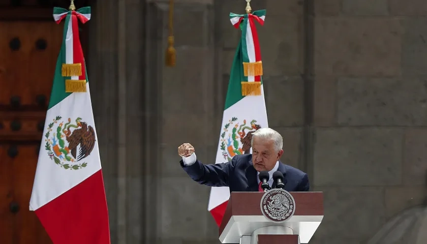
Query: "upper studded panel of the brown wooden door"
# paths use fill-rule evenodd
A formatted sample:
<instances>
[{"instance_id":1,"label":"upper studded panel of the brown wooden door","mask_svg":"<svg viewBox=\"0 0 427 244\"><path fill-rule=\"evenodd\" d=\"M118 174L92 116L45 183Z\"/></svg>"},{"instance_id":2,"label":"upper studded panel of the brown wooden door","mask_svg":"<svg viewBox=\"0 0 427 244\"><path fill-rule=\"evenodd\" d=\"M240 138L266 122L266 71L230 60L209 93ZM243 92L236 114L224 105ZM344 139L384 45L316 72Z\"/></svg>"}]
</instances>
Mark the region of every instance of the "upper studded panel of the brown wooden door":
<instances>
[{"instance_id":1,"label":"upper studded panel of the brown wooden door","mask_svg":"<svg viewBox=\"0 0 427 244\"><path fill-rule=\"evenodd\" d=\"M11 105L12 97L27 109L49 101L62 28L54 21L0 22L0 105Z\"/></svg>"}]
</instances>

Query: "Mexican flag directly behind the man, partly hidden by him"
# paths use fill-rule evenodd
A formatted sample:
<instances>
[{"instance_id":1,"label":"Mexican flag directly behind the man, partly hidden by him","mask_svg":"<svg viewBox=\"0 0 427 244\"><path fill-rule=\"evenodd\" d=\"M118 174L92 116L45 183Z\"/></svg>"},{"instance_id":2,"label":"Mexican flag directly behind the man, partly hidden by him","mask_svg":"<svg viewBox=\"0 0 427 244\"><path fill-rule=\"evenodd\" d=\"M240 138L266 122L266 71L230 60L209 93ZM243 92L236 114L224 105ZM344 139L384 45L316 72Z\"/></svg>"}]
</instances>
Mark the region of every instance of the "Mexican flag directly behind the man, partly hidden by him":
<instances>
[{"instance_id":1,"label":"Mexican flag directly behind the man, partly hidden by him","mask_svg":"<svg viewBox=\"0 0 427 244\"><path fill-rule=\"evenodd\" d=\"M230 13L231 23L241 29L241 38L234 55L227 98L220 131L216 163L224 163L235 155L252 153L252 133L268 127L262 82L262 62L255 22L264 24L265 10L253 14ZM227 207L228 187L212 187L208 211L218 226Z\"/></svg>"}]
</instances>

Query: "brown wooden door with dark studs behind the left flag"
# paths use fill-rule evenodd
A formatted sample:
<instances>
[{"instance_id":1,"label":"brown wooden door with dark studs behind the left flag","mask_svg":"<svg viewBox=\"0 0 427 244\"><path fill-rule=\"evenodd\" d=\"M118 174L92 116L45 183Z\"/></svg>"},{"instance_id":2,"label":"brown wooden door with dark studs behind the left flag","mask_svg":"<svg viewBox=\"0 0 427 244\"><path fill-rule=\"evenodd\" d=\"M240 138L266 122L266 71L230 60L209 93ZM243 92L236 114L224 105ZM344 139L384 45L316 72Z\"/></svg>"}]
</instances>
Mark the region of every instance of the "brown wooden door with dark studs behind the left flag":
<instances>
[{"instance_id":1,"label":"brown wooden door with dark studs behind the left flag","mask_svg":"<svg viewBox=\"0 0 427 244\"><path fill-rule=\"evenodd\" d=\"M28 205L63 28L0 20L1 244L51 243Z\"/></svg>"}]
</instances>

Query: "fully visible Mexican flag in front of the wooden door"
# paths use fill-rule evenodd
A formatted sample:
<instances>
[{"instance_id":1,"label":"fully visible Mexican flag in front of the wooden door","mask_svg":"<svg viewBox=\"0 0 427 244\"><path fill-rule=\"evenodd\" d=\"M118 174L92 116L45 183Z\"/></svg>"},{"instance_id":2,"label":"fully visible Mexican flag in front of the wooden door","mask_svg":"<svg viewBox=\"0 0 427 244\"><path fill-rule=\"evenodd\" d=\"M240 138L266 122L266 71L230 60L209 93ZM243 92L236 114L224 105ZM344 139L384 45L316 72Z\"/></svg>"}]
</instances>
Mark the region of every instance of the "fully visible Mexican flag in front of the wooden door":
<instances>
[{"instance_id":1,"label":"fully visible Mexican flag in front of the wooden door","mask_svg":"<svg viewBox=\"0 0 427 244\"><path fill-rule=\"evenodd\" d=\"M65 20L29 209L54 244L109 244L107 201L78 21L90 8L54 8Z\"/></svg>"}]
</instances>

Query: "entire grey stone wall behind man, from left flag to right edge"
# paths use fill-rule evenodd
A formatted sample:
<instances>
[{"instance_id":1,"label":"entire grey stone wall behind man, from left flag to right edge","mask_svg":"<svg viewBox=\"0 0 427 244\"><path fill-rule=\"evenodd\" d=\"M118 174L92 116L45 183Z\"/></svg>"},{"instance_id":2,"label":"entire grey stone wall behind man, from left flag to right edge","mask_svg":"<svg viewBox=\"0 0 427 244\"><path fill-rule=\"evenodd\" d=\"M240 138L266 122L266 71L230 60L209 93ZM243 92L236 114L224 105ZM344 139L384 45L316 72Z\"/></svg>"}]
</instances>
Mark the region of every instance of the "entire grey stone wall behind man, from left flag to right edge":
<instances>
[{"instance_id":1,"label":"entire grey stone wall behind man, from left flag to right edge","mask_svg":"<svg viewBox=\"0 0 427 244\"><path fill-rule=\"evenodd\" d=\"M426 195L422 0L253 0L269 125L283 162L325 194L310 243L363 243ZM94 3L88 76L112 243L219 243L209 188L178 165L215 160L241 0L175 0L177 66L164 65L168 1ZM115 15L111 11L115 11Z\"/></svg>"}]
</instances>

